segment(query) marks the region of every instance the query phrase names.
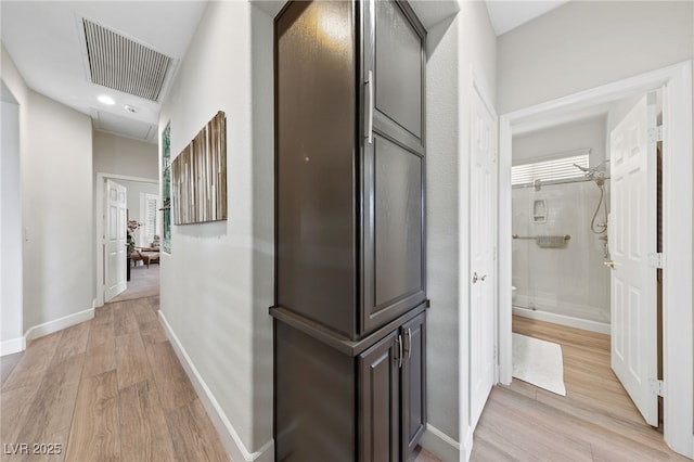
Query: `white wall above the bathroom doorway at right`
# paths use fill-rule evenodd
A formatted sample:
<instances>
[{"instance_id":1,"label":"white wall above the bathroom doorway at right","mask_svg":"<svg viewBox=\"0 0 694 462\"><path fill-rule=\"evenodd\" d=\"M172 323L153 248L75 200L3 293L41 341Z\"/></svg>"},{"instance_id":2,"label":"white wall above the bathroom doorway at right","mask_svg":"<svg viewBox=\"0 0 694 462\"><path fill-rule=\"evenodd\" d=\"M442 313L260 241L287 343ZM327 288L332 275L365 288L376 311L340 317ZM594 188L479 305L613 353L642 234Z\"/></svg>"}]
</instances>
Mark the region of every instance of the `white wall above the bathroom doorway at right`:
<instances>
[{"instance_id":1,"label":"white wall above the bathroom doorway at right","mask_svg":"<svg viewBox=\"0 0 694 462\"><path fill-rule=\"evenodd\" d=\"M499 37L499 113L694 57L691 1L570 1Z\"/></svg>"}]
</instances>

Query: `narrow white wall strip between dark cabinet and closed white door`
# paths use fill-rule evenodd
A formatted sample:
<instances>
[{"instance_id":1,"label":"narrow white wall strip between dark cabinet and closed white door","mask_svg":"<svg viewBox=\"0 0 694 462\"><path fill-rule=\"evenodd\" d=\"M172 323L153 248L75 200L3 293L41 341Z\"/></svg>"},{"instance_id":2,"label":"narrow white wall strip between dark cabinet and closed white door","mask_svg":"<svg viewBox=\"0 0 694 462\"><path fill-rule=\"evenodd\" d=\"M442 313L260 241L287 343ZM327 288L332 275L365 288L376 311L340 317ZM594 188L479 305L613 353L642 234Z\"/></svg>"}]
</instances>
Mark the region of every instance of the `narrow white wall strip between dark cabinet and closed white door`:
<instances>
[{"instance_id":1,"label":"narrow white wall strip between dark cabinet and closed white door","mask_svg":"<svg viewBox=\"0 0 694 462\"><path fill-rule=\"evenodd\" d=\"M460 14L427 33L426 293L428 424L458 440L459 220L458 37ZM428 435L427 435L428 436ZM425 441L426 442L426 441ZM430 448L430 444L428 445ZM430 448L434 449L434 448Z\"/></svg>"}]
</instances>

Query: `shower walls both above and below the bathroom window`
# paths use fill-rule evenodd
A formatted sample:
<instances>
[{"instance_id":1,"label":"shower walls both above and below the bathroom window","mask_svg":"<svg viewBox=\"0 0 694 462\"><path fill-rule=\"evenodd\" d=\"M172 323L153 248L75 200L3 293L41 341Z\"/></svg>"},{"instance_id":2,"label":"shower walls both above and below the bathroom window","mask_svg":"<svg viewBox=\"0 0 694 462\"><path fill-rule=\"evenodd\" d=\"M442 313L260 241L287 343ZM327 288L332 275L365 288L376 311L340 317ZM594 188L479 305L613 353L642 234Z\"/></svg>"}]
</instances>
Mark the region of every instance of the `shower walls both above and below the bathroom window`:
<instances>
[{"instance_id":1,"label":"shower walls both above and below the bathroom window","mask_svg":"<svg viewBox=\"0 0 694 462\"><path fill-rule=\"evenodd\" d=\"M589 164L595 166L606 157L605 140L604 116L518 134L513 138L513 163L590 147ZM609 204L609 181L604 200ZM603 265L605 241L600 239L607 233L590 230L599 201L593 181L513 190L513 234L570 235L558 248L513 240L514 313L609 333L609 269ZM545 208L542 220L535 217L537 204ZM597 221L602 217L601 208Z\"/></svg>"}]
</instances>

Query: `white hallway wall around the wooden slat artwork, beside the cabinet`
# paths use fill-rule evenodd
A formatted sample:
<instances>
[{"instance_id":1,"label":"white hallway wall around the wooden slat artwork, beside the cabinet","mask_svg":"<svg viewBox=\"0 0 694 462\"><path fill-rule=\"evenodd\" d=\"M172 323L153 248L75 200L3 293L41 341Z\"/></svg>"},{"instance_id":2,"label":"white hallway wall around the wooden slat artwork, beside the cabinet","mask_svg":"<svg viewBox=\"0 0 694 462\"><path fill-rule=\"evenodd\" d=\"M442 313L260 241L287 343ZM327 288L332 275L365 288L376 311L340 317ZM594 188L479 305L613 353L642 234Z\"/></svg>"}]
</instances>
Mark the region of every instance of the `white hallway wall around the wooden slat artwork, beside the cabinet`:
<instances>
[{"instance_id":1,"label":"white hallway wall around the wooden slat artwork, beside the cabinet","mask_svg":"<svg viewBox=\"0 0 694 462\"><path fill-rule=\"evenodd\" d=\"M248 2L210 2L159 128L170 120L175 158L224 111L229 218L172 227L160 306L227 420L234 459L273 458L272 94L272 18Z\"/></svg>"}]
</instances>

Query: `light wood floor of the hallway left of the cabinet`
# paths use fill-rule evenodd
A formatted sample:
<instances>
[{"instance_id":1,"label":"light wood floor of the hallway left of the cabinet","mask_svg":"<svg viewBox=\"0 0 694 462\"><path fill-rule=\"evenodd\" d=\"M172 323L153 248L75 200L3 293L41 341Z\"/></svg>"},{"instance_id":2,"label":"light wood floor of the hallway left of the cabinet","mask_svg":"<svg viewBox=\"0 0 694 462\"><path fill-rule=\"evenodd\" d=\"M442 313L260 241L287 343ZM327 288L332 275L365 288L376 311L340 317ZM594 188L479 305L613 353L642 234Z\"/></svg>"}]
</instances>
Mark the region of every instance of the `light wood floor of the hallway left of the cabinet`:
<instances>
[{"instance_id":1,"label":"light wood floor of the hallway left of the cabinet","mask_svg":"<svg viewBox=\"0 0 694 462\"><path fill-rule=\"evenodd\" d=\"M0 458L229 461L157 309L158 297L108 304L93 320L3 358ZM20 444L28 452L60 445L60 454L5 453Z\"/></svg>"}]
</instances>

